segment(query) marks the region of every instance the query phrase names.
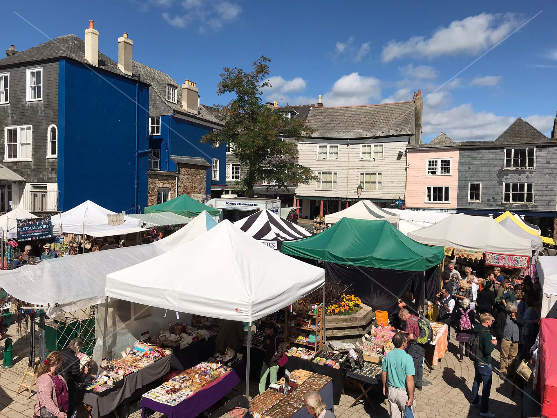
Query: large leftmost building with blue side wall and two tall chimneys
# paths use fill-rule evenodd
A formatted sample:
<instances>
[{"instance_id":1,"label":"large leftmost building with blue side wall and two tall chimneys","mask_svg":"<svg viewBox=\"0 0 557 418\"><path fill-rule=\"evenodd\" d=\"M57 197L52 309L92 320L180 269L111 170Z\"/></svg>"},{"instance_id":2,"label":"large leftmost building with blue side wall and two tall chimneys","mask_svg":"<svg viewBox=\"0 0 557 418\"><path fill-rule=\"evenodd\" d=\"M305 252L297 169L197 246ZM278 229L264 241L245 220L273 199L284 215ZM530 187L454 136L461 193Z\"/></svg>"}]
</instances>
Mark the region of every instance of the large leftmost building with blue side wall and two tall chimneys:
<instances>
[{"instance_id":1,"label":"large leftmost building with blue side wall and two tall chimneys","mask_svg":"<svg viewBox=\"0 0 557 418\"><path fill-rule=\"evenodd\" d=\"M0 154L17 174L0 178L0 211L64 211L85 200L116 212L146 206L149 84L131 70L127 34L118 63L99 53L98 36L91 22L85 42L66 35L12 46L0 60Z\"/></svg>"}]
</instances>

